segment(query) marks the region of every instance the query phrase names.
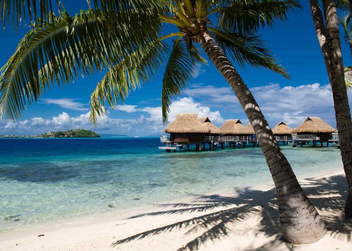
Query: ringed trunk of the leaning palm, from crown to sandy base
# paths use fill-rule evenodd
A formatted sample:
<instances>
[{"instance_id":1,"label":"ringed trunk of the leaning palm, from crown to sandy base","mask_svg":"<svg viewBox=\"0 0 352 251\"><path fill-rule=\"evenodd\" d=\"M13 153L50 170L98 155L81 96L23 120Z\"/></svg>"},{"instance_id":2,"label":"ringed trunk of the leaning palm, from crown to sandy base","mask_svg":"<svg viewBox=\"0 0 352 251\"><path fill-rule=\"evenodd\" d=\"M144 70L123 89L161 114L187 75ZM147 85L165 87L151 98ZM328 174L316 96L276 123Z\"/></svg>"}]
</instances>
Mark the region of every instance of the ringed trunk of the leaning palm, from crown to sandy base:
<instances>
[{"instance_id":1,"label":"ringed trunk of the leaning palm, from crown to sandy base","mask_svg":"<svg viewBox=\"0 0 352 251\"><path fill-rule=\"evenodd\" d=\"M326 233L325 224L303 192L253 95L207 31L200 35L199 41L232 87L255 131L276 186L284 237L295 244L318 241Z\"/></svg>"}]
</instances>

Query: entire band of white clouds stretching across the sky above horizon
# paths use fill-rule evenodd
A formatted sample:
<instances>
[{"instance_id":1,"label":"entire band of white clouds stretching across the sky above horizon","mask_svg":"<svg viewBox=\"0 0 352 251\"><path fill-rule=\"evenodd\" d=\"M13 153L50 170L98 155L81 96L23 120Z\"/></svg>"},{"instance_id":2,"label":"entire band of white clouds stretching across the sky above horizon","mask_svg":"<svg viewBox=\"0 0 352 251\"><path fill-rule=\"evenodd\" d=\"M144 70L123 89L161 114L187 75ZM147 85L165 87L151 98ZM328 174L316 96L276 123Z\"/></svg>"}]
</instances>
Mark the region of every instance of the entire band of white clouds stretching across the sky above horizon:
<instances>
[{"instance_id":1,"label":"entire band of white clouds stretching across the sky above horizon","mask_svg":"<svg viewBox=\"0 0 352 251\"><path fill-rule=\"evenodd\" d=\"M318 83L301 85L297 87L279 84L268 84L251 88L251 91L262 109L264 115L273 127L281 120L291 127L296 127L307 116L320 116L326 122L335 126L335 113L330 85ZM178 113L197 113L198 116L208 116L210 120L220 126L224 118L221 111L230 111L229 118L242 118L246 123L245 114L230 87L215 87L213 85L198 84L185 90L187 97L174 100L170 105L170 121ZM349 100L352 100L352 91L348 92ZM207 100L207 104L196 101ZM230 105L228 105L230 104ZM212 107L220 106L221 110ZM352 107L352 103L350 102ZM51 118L32 117L17 122L0 120L0 134L42 134L47 131L59 131L69 129L92 129L98 133L127 134L141 136L158 135L164 128L161 118L161 107L141 107L138 105L119 105L119 111L114 111L114 116L120 112L131 113L128 119L113 118L112 113L100 117L96 126L89 120L90 112L84 112L78 116L71 116L67 112L61 112ZM240 112L238 114L238 112ZM231 115L233 114L233 115Z\"/></svg>"}]
</instances>

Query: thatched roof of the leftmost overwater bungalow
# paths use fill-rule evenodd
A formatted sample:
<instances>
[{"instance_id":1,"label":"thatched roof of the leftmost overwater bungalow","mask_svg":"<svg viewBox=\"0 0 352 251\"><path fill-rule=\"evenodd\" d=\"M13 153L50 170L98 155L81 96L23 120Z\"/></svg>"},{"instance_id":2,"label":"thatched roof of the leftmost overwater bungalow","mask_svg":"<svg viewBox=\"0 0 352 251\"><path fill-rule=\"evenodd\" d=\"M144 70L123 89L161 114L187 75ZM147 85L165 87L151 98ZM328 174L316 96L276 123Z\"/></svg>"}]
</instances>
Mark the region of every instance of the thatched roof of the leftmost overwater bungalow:
<instances>
[{"instance_id":1,"label":"thatched roof of the leftmost overwater bungalow","mask_svg":"<svg viewBox=\"0 0 352 251\"><path fill-rule=\"evenodd\" d=\"M199 121L197 113L177 114L167 128L165 133L210 133L206 124Z\"/></svg>"}]
</instances>

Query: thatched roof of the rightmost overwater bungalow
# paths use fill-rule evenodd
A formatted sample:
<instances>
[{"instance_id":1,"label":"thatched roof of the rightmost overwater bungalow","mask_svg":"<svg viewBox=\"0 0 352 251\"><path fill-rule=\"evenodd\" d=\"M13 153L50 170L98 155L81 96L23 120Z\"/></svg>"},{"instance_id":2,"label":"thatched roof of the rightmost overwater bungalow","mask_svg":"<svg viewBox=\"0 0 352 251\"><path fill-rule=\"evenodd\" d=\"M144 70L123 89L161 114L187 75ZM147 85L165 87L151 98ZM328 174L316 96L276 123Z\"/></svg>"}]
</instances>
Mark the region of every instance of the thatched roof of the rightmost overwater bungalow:
<instances>
[{"instance_id":1,"label":"thatched roof of the rightmost overwater bungalow","mask_svg":"<svg viewBox=\"0 0 352 251\"><path fill-rule=\"evenodd\" d=\"M336 130L330 127L320 117L307 117L292 133L335 133Z\"/></svg>"}]
</instances>

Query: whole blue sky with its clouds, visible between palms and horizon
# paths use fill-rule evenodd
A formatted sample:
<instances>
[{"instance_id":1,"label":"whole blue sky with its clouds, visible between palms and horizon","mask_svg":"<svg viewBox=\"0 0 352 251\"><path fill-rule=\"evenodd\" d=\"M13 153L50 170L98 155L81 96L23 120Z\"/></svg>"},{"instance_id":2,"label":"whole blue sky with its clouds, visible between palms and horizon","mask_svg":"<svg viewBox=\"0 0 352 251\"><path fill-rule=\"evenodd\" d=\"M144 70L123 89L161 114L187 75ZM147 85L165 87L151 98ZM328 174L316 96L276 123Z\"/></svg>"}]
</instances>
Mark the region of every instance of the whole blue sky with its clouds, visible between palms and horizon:
<instances>
[{"instance_id":1,"label":"whole blue sky with its clouds, visible between palms and horizon","mask_svg":"<svg viewBox=\"0 0 352 251\"><path fill-rule=\"evenodd\" d=\"M66 10L75 13L86 9L85 0L62 1ZM28 31L24 24L19 32L12 27L0 31L0 64L4 65L15 52L16 46ZM172 32L163 27L163 32ZM138 32L138 28L136 29ZM262 29L259 33L272 49L276 58L289 71L291 79L262 68L237 66L244 82L253 92L259 106L274 127L284 120L292 128L307 116L320 116L335 127L334 109L324 61L315 36L308 2L303 10L290 13L285 23L278 22L272 29ZM170 41L171 42L171 39ZM344 65L351 65L349 48L342 41ZM205 58L206 55L204 55ZM197 112L199 116L209 116L217 126L225 119L248 120L233 91L221 74L208 62L209 66L199 66L187 89L171 104L171 119L177 113ZM79 78L69 86L54 87L42 95L39 102L29 107L23 117L16 122L0 120L1 134L39 134L47 131L74 128L92 129L98 133L135 135L159 135L164 128L161 121L161 83L163 68L141 89L131 93L125 105L116 110L109 109L94 127L89 117L89 99L97 83L105 72L89 78ZM352 93L348 93L352 99ZM352 103L350 102L350 105Z\"/></svg>"}]
</instances>

